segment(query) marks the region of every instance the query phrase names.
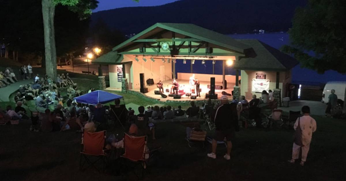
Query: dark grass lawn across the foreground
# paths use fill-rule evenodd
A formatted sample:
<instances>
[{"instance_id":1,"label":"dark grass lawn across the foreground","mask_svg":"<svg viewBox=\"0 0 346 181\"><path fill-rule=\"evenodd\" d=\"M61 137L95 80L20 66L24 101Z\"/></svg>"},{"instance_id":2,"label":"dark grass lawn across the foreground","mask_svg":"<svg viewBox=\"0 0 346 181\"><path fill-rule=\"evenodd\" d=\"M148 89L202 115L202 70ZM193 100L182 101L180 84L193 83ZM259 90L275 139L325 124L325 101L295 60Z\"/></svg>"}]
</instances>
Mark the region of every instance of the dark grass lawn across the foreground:
<instances>
[{"instance_id":1,"label":"dark grass lawn across the foreground","mask_svg":"<svg viewBox=\"0 0 346 181\"><path fill-rule=\"evenodd\" d=\"M206 156L209 143L206 148L188 147L182 125L158 124L157 140L149 138L149 145L162 149L144 180L345 180L345 122L315 118L317 132L304 167L286 162L291 158L292 130L240 130L231 160L226 161L222 158L225 146L218 147L213 160ZM93 169L79 171L81 134L29 132L29 125L0 126L1 180L136 180L131 172L121 171L119 161L113 161L105 174ZM121 134L121 130L111 129L110 133Z\"/></svg>"}]
</instances>

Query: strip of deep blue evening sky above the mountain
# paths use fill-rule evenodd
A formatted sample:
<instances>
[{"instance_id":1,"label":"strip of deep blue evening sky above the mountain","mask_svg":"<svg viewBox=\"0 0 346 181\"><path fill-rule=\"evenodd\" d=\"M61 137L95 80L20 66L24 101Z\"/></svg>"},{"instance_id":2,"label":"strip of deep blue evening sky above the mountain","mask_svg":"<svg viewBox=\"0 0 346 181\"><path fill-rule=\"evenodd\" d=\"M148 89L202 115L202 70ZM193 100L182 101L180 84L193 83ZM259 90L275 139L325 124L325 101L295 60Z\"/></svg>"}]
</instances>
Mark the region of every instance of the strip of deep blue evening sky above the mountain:
<instances>
[{"instance_id":1,"label":"strip of deep blue evening sky above the mountain","mask_svg":"<svg viewBox=\"0 0 346 181\"><path fill-rule=\"evenodd\" d=\"M140 0L135 2L133 0L98 0L99 7L93 10L93 12L103 11L108 9L116 9L123 7L135 7L135 6L159 6L178 0Z\"/></svg>"}]
</instances>

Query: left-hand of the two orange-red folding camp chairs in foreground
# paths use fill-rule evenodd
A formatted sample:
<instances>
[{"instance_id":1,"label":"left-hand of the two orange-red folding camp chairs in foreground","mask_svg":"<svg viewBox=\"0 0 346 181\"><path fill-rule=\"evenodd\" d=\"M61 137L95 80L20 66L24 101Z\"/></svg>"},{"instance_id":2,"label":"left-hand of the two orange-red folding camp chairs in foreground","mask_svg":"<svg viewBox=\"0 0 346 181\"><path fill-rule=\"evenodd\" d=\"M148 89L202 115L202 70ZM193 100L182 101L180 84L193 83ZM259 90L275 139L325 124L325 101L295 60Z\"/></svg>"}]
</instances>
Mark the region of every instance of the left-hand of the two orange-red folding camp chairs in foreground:
<instances>
[{"instance_id":1,"label":"left-hand of the two orange-red folding camp chairs in foreground","mask_svg":"<svg viewBox=\"0 0 346 181\"><path fill-rule=\"evenodd\" d=\"M87 131L84 131L84 133L82 134L82 151L80 152L81 158L79 162L79 170L83 170L83 166L86 162L89 164L88 167L93 166L100 172L100 170L95 166L95 163L97 163L99 160L103 162L102 170L104 171L106 169L106 164L108 161L107 151L109 150L104 149L105 140L106 131L96 133L89 133ZM97 157L97 159L91 161L91 157ZM82 162L83 158L84 161Z\"/></svg>"}]
</instances>

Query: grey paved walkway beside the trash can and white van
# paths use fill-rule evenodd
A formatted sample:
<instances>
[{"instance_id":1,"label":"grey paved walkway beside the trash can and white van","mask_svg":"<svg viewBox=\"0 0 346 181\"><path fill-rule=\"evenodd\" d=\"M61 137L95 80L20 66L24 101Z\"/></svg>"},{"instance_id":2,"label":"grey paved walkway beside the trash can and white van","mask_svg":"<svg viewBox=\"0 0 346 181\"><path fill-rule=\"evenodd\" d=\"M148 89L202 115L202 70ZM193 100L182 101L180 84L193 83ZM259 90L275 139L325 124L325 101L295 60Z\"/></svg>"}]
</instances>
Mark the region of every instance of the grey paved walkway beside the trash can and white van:
<instances>
[{"instance_id":1,"label":"grey paved walkway beside the trash can and white van","mask_svg":"<svg viewBox=\"0 0 346 181\"><path fill-rule=\"evenodd\" d=\"M289 112L289 111L300 111L303 106L309 106L311 115L319 115L324 116L327 105L325 103L322 103L321 101L304 101L304 100L297 100L297 101L290 101L290 107L280 107L279 109L282 109L283 111Z\"/></svg>"}]
</instances>

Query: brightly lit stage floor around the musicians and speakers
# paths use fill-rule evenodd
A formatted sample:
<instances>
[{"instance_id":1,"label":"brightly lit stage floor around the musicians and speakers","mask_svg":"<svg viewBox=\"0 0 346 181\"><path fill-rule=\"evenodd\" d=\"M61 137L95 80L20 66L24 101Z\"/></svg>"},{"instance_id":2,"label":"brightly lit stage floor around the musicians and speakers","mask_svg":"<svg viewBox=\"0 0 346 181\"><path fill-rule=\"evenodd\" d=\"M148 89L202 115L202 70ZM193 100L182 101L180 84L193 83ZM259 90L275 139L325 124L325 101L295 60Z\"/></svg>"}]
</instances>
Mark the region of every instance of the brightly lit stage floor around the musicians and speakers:
<instances>
[{"instance_id":1,"label":"brightly lit stage floor around the musicians and speakers","mask_svg":"<svg viewBox=\"0 0 346 181\"><path fill-rule=\"evenodd\" d=\"M177 80L179 87L183 88L186 92L190 92L190 87L189 87L189 80ZM206 100L206 93L209 92L209 89L207 88L208 84L210 84L210 81L200 81L200 88L202 89L201 93L201 97L197 97L196 100ZM215 85L222 85L221 82L215 82ZM222 96L221 92L222 91L226 91L227 93L231 94L233 87L235 86L235 83L227 83L227 89L226 90L215 90L215 93L218 94L218 98L220 99L220 97ZM186 101L186 100L192 100L190 97L186 96L185 94L181 96L181 99L173 99L173 97L169 97L168 94L169 92L164 92L164 94L167 95L167 98L162 98L161 95L156 95L154 93L155 90L158 90L158 88L156 87L156 83L154 85L147 85L146 86L148 88L148 93L145 93L146 96L154 98L154 99L160 99L160 101L167 101L167 100L182 100L182 101ZM172 80L166 80L163 81L163 89L164 91L166 91L166 89L171 90L172 87ZM136 90L139 91L139 90ZM192 94L192 95L196 95ZM228 96L228 99L232 100L231 96Z\"/></svg>"}]
</instances>

